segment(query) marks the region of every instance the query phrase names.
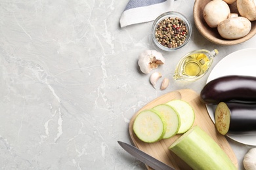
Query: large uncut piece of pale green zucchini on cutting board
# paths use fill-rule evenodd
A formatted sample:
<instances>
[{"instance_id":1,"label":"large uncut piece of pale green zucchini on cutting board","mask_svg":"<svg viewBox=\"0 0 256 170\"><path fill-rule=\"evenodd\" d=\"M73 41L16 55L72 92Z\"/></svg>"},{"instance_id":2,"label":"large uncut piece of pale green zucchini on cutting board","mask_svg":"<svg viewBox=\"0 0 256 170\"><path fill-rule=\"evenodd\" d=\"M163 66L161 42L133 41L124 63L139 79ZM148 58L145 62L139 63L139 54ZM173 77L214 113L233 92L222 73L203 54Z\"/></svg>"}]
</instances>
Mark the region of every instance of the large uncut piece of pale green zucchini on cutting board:
<instances>
[{"instance_id":1,"label":"large uncut piece of pale green zucchini on cutting board","mask_svg":"<svg viewBox=\"0 0 256 170\"><path fill-rule=\"evenodd\" d=\"M192 169L237 169L221 147L199 126L184 133L169 149Z\"/></svg>"}]
</instances>

